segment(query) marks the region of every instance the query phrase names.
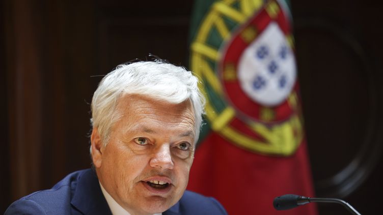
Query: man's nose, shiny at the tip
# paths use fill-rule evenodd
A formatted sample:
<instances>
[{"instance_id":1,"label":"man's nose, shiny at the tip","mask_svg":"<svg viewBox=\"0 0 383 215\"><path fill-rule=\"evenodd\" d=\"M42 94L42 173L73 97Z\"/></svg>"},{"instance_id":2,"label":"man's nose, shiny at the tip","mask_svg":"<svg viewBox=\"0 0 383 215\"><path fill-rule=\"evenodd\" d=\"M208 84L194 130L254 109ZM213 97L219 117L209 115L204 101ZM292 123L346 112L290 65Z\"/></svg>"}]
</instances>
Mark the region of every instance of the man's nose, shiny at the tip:
<instances>
[{"instance_id":1,"label":"man's nose, shiny at the tip","mask_svg":"<svg viewBox=\"0 0 383 215\"><path fill-rule=\"evenodd\" d=\"M155 168L173 169L174 163L172 161L170 146L168 144L158 146L153 152L149 164Z\"/></svg>"}]
</instances>

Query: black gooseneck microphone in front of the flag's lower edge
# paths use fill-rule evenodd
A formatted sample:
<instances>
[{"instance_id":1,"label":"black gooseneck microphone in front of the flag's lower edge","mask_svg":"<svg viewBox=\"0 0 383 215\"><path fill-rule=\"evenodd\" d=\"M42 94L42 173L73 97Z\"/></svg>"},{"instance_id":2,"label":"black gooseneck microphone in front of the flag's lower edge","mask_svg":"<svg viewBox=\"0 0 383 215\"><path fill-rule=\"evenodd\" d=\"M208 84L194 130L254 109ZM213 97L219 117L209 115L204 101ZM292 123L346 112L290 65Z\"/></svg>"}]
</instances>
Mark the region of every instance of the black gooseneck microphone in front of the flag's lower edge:
<instances>
[{"instance_id":1,"label":"black gooseneck microphone in front of the flag's lower edge","mask_svg":"<svg viewBox=\"0 0 383 215\"><path fill-rule=\"evenodd\" d=\"M288 210L300 205L304 205L310 202L330 202L338 203L343 205L348 211L354 215L361 215L357 210L355 210L350 204L341 200L333 198L310 198L305 196L298 196L294 194L286 194L283 196L278 196L272 202L273 206L277 210Z\"/></svg>"}]
</instances>

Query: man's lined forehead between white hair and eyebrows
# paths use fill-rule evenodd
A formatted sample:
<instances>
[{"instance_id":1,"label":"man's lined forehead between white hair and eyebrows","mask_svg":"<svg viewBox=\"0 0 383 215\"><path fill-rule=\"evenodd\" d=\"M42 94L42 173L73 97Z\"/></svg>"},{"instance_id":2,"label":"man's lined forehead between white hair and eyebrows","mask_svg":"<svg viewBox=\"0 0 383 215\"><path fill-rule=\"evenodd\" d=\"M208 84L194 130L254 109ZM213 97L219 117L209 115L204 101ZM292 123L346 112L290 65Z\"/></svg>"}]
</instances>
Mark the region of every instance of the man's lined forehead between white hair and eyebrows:
<instances>
[{"instance_id":1,"label":"man's lined forehead between white hair and eyebrows","mask_svg":"<svg viewBox=\"0 0 383 215\"><path fill-rule=\"evenodd\" d=\"M180 137L195 137L196 119L189 100L171 104L143 95L125 95L120 98L117 111L122 117L116 126L125 127L125 132L175 132Z\"/></svg>"}]
</instances>

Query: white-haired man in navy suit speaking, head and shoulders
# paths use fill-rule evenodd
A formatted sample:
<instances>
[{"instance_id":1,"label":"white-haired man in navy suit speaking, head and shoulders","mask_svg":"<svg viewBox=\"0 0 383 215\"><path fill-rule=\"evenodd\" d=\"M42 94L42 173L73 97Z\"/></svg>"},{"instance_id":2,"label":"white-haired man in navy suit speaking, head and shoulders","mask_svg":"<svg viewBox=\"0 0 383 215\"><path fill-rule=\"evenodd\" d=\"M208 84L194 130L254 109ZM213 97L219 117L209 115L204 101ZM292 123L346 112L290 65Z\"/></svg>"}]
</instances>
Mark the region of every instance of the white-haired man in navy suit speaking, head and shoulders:
<instances>
[{"instance_id":1,"label":"white-haired man in navy suit speaking, head and shoulders","mask_svg":"<svg viewBox=\"0 0 383 215\"><path fill-rule=\"evenodd\" d=\"M5 214L226 214L215 199L185 191L203 114L197 83L167 63L118 66L92 99L94 168Z\"/></svg>"}]
</instances>

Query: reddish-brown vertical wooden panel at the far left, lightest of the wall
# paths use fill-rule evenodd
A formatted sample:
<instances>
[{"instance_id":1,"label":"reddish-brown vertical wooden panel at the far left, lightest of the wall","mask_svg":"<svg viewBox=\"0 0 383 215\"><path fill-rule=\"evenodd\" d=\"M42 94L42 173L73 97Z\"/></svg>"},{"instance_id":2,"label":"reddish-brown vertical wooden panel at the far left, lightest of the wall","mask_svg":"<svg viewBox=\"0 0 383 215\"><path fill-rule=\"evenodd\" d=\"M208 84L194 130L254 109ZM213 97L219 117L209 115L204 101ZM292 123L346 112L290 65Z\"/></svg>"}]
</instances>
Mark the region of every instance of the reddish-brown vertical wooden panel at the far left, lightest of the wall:
<instances>
[{"instance_id":1,"label":"reddish-brown vertical wooden panel at the far left, lightest of the wall","mask_svg":"<svg viewBox=\"0 0 383 215\"><path fill-rule=\"evenodd\" d=\"M41 173L41 41L38 6L7 1L6 60L8 82L11 197L37 190ZM8 174L7 174L8 175Z\"/></svg>"}]
</instances>

